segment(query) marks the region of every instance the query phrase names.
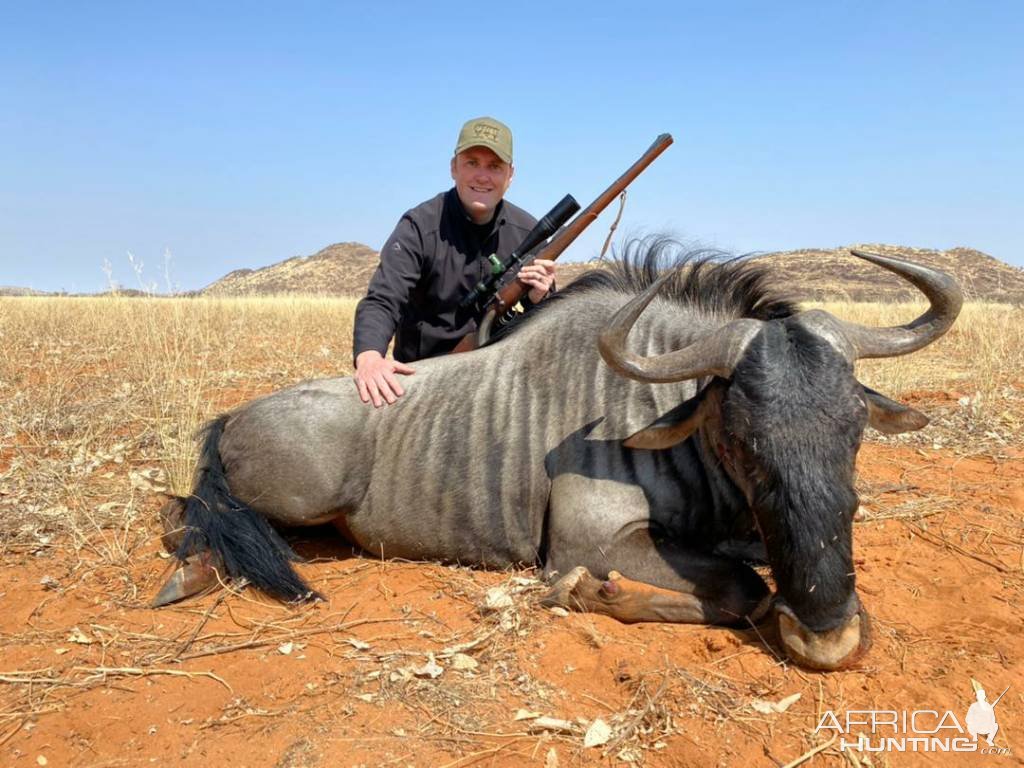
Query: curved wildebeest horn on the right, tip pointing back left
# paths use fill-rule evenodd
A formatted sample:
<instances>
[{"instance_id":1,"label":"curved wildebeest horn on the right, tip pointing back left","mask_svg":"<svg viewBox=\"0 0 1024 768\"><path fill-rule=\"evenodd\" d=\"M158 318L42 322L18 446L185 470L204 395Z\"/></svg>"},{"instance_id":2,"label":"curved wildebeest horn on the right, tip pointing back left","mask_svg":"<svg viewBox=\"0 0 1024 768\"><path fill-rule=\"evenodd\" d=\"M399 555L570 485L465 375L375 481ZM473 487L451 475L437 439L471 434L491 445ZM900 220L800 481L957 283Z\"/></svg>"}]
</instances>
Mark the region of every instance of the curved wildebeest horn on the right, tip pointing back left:
<instances>
[{"instance_id":1,"label":"curved wildebeest horn on the right, tip pointing back left","mask_svg":"<svg viewBox=\"0 0 1024 768\"><path fill-rule=\"evenodd\" d=\"M928 311L905 326L867 328L840 321L843 334L853 347L855 359L862 357L896 357L928 346L949 330L964 304L959 286L950 275L902 259L877 253L851 250L854 256L870 261L913 284L928 300Z\"/></svg>"}]
</instances>

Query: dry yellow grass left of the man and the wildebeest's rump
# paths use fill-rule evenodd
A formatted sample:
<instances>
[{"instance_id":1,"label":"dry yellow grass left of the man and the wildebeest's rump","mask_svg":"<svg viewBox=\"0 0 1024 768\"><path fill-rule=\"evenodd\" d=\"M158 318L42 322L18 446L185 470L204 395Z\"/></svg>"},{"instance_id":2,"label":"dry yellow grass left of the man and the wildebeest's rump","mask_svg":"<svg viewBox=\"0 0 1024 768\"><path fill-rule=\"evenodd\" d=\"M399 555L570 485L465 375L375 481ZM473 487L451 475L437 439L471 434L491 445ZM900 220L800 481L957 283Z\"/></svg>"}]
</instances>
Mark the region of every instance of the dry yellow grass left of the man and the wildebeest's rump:
<instances>
[{"instance_id":1,"label":"dry yellow grass left of the man and the wildebeest's rump","mask_svg":"<svg viewBox=\"0 0 1024 768\"><path fill-rule=\"evenodd\" d=\"M207 419L351 372L354 306L294 296L0 300L0 512L18 510L0 517L0 553L61 534L123 561L144 527L131 525L139 493L189 490Z\"/></svg>"}]
</instances>

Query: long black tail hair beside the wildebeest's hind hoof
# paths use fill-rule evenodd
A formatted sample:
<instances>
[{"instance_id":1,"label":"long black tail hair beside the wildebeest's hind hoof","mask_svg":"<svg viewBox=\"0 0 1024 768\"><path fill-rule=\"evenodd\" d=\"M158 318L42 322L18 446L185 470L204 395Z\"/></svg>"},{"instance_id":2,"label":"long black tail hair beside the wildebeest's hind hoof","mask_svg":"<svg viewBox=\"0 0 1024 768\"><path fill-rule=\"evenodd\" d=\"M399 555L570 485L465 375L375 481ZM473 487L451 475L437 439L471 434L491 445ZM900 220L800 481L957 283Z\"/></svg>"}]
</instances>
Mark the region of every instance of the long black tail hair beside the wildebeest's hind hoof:
<instances>
[{"instance_id":1,"label":"long black tail hair beside the wildebeest's hind hoof","mask_svg":"<svg viewBox=\"0 0 1024 768\"><path fill-rule=\"evenodd\" d=\"M231 496L220 459L220 436L227 416L203 427L196 486L185 499L185 537L177 557L209 550L220 556L228 575L245 578L273 597L287 601L319 595L290 563L298 559L266 518Z\"/></svg>"}]
</instances>

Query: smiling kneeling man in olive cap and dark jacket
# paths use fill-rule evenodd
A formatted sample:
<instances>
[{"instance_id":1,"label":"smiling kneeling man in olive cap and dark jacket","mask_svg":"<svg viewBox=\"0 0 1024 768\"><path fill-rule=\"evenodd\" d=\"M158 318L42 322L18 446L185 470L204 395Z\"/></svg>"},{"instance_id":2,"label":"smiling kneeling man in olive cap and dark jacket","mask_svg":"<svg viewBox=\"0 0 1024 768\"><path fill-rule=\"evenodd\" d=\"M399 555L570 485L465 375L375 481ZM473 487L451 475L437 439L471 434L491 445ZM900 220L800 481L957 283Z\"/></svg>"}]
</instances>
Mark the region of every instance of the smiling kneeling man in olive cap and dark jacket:
<instances>
[{"instance_id":1,"label":"smiling kneeling man in olive cap and dark jacket","mask_svg":"<svg viewBox=\"0 0 1024 768\"><path fill-rule=\"evenodd\" d=\"M445 354L476 330L479 313L459 303L486 274L486 257L515 250L537 220L504 200L512 183L512 132L494 118L462 127L451 163L455 186L407 211L381 249L380 265L355 309L355 386L375 408L403 393L396 374L411 360ZM555 285L554 262L536 259L519 270L524 303ZM394 337L394 359L384 354Z\"/></svg>"}]
</instances>

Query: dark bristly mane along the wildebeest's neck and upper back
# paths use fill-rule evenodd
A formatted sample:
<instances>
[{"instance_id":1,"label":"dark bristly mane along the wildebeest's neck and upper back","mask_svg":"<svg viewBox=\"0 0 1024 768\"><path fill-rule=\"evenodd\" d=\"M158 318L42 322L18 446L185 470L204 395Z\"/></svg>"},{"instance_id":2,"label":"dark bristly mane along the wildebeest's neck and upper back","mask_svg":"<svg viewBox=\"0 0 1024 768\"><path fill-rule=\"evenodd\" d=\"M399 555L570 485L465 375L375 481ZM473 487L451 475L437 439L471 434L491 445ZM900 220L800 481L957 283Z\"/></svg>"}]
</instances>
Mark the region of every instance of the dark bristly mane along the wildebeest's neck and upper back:
<instances>
[{"instance_id":1,"label":"dark bristly mane along the wildebeest's neck and upper back","mask_svg":"<svg viewBox=\"0 0 1024 768\"><path fill-rule=\"evenodd\" d=\"M658 296L690 310L762 321L788 317L799 311L797 302L778 289L764 263L714 249L685 249L671 238L649 237L630 241L607 268L584 272L566 288L517 315L495 332L490 343L563 301L607 290L643 293L666 269L674 270L674 275Z\"/></svg>"}]
</instances>

